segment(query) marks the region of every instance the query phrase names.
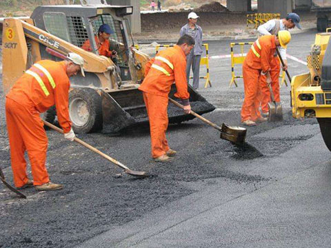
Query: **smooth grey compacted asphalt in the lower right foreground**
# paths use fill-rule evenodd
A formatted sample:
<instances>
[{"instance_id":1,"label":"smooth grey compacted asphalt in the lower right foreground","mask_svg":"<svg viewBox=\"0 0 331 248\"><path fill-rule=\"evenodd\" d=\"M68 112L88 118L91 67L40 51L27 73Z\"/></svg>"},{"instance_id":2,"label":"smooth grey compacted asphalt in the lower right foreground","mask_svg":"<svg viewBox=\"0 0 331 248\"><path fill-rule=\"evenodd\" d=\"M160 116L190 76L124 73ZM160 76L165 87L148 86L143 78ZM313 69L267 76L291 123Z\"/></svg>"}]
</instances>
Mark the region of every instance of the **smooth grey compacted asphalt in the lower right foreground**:
<instances>
[{"instance_id":1,"label":"smooth grey compacted asphalt in the lower right foreground","mask_svg":"<svg viewBox=\"0 0 331 248\"><path fill-rule=\"evenodd\" d=\"M311 147L320 147L313 161ZM250 174L273 178L259 187L205 180L199 192L79 247L328 247L330 165L317 134L281 156L246 165Z\"/></svg>"}]
</instances>

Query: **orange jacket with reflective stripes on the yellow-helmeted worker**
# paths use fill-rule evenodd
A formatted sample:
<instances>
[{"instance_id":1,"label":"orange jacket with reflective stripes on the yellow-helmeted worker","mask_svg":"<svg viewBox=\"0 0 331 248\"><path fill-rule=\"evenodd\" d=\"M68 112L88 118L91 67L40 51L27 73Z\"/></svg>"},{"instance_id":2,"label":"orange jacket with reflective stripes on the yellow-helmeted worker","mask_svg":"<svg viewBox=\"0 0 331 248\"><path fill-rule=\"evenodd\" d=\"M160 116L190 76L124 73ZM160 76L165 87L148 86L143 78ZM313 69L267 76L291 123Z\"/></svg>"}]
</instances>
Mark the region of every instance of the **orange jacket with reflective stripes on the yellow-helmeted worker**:
<instances>
[{"instance_id":1,"label":"orange jacket with reflective stripes on the yellow-helmeted worker","mask_svg":"<svg viewBox=\"0 0 331 248\"><path fill-rule=\"evenodd\" d=\"M274 38L274 35L264 35L257 39L245 57L244 65L248 65L252 69L268 72L271 69L270 62L276 52Z\"/></svg>"}]
</instances>

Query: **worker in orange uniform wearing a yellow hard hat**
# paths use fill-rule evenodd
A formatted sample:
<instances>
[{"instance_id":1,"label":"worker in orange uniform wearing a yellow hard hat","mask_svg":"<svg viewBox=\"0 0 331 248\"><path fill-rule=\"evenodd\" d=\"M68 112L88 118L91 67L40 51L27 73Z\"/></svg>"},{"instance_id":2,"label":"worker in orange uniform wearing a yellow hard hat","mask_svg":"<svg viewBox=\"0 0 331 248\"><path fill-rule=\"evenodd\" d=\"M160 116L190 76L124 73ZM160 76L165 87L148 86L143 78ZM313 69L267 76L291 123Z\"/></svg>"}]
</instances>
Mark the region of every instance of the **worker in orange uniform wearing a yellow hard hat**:
<instances>
[{"instance_id":1,"label":"worker in orange uniform wearing a yellow hard hat","mask_svg":"<svg viewBox=\"0 0 331 248\"><path fill-rule=\"evenodd\" d=\"M257 125L257 122L267 121L259 111L260 99L258 94L261 90L261 75L266 76L266 82L271 83L271 61L277 47L286 48L291 40L291 34L287 30L278 32L278 35L265 35L254 42L245 61L243 61L243 85L245 99L241 108L241 122L247 126Z\"/></svg>"}]
</instances>

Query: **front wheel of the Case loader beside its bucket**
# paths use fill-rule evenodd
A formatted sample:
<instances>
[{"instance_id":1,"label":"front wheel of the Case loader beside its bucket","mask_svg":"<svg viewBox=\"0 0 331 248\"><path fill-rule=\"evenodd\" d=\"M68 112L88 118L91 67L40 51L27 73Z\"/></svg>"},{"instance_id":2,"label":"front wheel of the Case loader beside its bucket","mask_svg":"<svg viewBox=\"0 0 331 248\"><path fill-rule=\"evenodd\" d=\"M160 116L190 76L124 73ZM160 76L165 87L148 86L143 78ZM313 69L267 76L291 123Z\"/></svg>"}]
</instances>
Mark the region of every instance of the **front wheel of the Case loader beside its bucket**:
<instances>
[{"instance_id":1,"label":"front wheel of the Case loader beside its bucket","mask_svg":"<svg viewBox=\"0 0 331 248\"><path fill-rule=\"evenodd\" d=\"M91 88L74 89L69 93L69 114L72 129L86 134L102 127L101 96Z\"/></svg>"}]
</instances>

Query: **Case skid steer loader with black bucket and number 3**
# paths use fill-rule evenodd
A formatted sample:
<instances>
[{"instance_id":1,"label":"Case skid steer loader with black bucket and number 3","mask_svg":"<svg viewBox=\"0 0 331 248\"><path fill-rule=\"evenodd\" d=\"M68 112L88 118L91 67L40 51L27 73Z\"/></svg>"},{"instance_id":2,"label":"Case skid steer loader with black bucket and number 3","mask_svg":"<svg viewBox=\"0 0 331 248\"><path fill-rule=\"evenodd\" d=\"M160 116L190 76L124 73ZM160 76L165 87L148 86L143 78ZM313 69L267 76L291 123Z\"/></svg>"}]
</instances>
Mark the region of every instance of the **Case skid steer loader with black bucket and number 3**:
<instances>
[{"instance_id":1,"label":"Case skid steer loader with black bucket and number 3","mask_svg":"<svg viewBox=\"0 0 331 248\"><path fill-rule=\"evenodd\" d=\"M70 78L69 110L74 132L88 133L102 129L102 132L113 133L148 122L138 87L149 58L134 49L125 18L132 14L132 6L110 6L102 0L97 5L82 2L87 4L39 6L30 19L4 19L2 52L5 94L33 63L41 59L60 61L68 52L76 52L85 60L86 77L77 75ZM94 37L103 23L114 30L110 37L110 49L117 51L116 65L111 59L98 54ZM92 52L81 49L87 40ZM172 85L170 97L175 90ZM194 112L203 114L214 110L214 106L190 86L189 92ZM170 123L194 118L174 105L169 105L168 116ZM54 121L54 107L43 113L43 118Z\"/></svg>"}]
</instances>

